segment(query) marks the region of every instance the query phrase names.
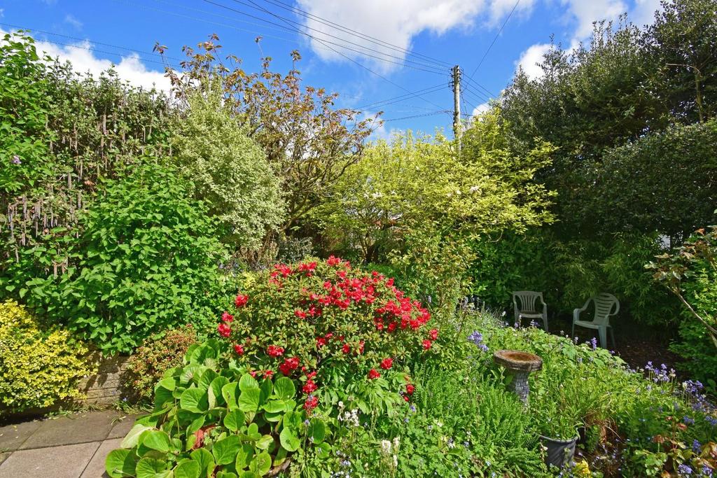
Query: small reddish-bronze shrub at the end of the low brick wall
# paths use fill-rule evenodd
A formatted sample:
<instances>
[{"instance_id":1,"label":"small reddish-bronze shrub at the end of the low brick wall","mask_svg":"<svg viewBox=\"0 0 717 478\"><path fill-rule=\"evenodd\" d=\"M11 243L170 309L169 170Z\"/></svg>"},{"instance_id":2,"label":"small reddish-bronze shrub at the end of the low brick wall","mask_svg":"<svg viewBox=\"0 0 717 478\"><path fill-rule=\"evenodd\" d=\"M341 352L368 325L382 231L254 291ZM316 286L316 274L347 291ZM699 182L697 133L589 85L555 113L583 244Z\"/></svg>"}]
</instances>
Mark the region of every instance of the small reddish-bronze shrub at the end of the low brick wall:
<instances>
[{"instance_id":1,"label":"small reddish-bronze shrub at the end of the low brick wall","mask_svg":"<svg viewBox=\"0 0 717 478\"><path fill-rule=\"evenodd\" d=\"M186 350L194 343L197 343L196 330L191 325L145 340L130 355L123 376L123 387L130 398L151 401L155 384L170 368L182 365Z\"/></svg>"}]
</instances>

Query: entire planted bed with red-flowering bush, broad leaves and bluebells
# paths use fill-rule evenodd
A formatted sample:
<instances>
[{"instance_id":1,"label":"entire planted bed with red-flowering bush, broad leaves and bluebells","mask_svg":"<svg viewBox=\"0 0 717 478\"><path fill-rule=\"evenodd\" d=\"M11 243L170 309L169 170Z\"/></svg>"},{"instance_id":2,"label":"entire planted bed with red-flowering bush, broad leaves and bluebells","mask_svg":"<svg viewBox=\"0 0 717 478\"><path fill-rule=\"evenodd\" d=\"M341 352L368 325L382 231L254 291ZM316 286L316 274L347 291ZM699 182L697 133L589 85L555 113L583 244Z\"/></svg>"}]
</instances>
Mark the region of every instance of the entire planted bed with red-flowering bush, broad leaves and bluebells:
<instances>
[{"instance_id":1,"label":"entire planted bed with red-flowering bush, broad leaves and bluebells","mask_svg":"<svg viewBox=\"0 0 717 478\"><path fill-rule=\"evenodd\" d=\"M488 312L430 317L341 259L277 264L218 318L156 383L110 476L550 476L540 435L580 437L576 476L716 466L701 384ZM543 359L527 409L493 363L505 348Z\"/></svg>"}]
</instances>

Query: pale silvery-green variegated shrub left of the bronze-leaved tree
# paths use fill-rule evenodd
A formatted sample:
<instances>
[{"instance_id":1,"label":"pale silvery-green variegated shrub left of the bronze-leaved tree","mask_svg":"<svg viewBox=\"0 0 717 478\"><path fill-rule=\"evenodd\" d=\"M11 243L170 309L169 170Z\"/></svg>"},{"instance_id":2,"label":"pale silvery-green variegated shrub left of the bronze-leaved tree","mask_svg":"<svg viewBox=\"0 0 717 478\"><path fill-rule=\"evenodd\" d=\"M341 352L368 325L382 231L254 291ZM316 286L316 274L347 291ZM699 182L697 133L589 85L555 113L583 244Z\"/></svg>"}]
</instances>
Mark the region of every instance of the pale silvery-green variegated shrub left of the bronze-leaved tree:
<instances>
[{"instance_id":1,"label":"pale silvery-green variegated shrub left of the bronze-leaved tree","mask_svg":"<svg viewBox=\"0 0 717 478\"><path fill-rule=\"evenodd\" d=\"M256 249L283 219L280 178L237 123L218 82L190 92L188 100L188 113L174 125L174 161L194 197L227 225L225 242Z\"/></svg>"}]
</instances>

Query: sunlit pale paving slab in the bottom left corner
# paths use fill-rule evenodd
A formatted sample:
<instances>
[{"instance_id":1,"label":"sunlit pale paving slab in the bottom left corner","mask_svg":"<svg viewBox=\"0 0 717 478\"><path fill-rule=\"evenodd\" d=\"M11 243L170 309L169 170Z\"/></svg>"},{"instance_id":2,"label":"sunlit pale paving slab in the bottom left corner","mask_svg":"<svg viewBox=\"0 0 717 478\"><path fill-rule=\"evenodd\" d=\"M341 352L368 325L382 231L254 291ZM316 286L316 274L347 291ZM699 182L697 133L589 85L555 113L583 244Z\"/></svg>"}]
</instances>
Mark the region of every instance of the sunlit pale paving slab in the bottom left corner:
<instances>
[{"instance_id":1,"label":"sunlit pale paving slab in the bottom left corner","mask_svg":"<svg viewBox=\"0 0 717 478\"><path fill-rule=\"evenodd\" d=\"M77 478L100 442L19 450L0 464L0 478Z\"/></svg>"}]
</instances>

